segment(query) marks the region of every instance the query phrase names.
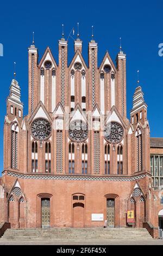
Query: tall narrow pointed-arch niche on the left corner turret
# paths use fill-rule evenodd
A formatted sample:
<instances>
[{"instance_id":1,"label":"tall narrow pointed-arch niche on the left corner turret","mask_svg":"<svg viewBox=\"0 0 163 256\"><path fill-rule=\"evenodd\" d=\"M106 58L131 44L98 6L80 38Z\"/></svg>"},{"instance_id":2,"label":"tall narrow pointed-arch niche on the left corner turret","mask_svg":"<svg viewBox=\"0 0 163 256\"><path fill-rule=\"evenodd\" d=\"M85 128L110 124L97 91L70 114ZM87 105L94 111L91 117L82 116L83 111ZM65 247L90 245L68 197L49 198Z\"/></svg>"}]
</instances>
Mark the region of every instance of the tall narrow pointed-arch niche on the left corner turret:
<instances>
[{"instance_id":1,"label":"tall narrow pointed-arch niche on the left corner turret","mask_svg":"<svg viewBox=\"0 0 163 256\"><path fill-rule=\"evenodd\" d=\"M11 126L11 168L18 169L18 124Z\"/></svg>"}]
</instances>

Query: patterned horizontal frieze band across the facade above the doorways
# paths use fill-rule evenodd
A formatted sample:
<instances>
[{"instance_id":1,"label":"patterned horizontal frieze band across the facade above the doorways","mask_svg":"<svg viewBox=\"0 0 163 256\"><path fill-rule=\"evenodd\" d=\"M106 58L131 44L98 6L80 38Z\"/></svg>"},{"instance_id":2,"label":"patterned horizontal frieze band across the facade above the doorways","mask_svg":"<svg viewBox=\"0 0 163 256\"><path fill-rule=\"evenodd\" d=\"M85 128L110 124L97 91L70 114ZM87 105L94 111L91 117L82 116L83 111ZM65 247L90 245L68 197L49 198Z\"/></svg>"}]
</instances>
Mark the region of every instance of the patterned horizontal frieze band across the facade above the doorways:
<instances>
[{"instance_id":1,"label":"patterned horizontal frieze band across the facade above the doorways","mask_svg":"<svg viewBox=\"0 0 163 256\"><path fill-rule=\"evenodd\" d=\"M75 176L75 175L27 175L17 174L15 172L8 171L8 176L23 178L25 180L69 180L69 181L136 181L141 178L146 178L146 174L133 177L93 177L93 176Z\"/></svg>"}]
</instances>

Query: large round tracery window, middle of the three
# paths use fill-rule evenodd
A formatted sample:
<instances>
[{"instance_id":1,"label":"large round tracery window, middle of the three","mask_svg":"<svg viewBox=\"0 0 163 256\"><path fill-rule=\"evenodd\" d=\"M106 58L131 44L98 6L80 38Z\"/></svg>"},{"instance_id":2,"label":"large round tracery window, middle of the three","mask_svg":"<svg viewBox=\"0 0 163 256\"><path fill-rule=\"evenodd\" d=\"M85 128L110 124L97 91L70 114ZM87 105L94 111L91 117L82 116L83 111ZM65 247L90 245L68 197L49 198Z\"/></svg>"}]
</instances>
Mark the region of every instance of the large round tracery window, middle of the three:
<instances>
[{"instance_id":1,"label":"large round tracery window, middle of the three","mask_svg":"<svg viewBox=\"0 0 163 256\"><path fill-rule=\"evenodd\" d=\"M68 134L71 140L76 142L82 142L86 140L88 135L88 129L85 122L82 120L72 121L69 125Z\"/></svg>"}]
</instances>

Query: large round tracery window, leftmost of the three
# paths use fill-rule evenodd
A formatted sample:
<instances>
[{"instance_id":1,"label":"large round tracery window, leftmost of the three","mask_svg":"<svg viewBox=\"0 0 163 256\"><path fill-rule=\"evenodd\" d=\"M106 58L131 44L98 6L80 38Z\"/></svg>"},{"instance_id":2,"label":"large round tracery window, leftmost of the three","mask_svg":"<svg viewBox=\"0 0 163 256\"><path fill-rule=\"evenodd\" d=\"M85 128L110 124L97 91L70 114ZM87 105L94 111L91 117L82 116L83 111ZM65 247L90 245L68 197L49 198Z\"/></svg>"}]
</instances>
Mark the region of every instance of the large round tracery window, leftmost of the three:
<instances>
[{"instance_id":1,"label":"large round tracery window, leftmost of the three","mask_svg":"<svg viewBox=\"0 0 163 256\"><path fill-rule=\"evenodd\" d=\"M46 119L37 118L32 123L31 131L36 140L46 140L51 135L52 127Z\"/></svg>"}]
</instances>

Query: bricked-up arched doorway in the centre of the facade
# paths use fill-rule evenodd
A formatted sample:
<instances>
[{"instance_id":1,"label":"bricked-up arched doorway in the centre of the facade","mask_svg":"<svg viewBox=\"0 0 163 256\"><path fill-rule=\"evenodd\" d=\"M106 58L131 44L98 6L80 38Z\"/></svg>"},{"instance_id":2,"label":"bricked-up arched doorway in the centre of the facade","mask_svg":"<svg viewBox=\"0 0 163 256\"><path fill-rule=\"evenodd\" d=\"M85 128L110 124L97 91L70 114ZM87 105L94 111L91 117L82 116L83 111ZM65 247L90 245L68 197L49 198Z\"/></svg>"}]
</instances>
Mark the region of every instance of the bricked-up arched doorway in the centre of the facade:
<instances>
[{"instance_id":1,"label":"bricked-up arched doorway in the centre of the facade","mask_svg":"<svg viewBox=\"0 0 163 256\"><path fill-rule=\"evenodd\" d=\"M73 228L84 228L84 204L73 204Z\"/></svg>"}]
</instances>

